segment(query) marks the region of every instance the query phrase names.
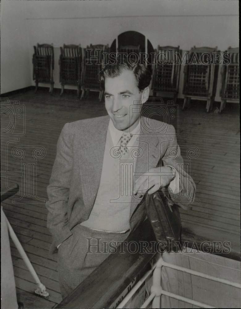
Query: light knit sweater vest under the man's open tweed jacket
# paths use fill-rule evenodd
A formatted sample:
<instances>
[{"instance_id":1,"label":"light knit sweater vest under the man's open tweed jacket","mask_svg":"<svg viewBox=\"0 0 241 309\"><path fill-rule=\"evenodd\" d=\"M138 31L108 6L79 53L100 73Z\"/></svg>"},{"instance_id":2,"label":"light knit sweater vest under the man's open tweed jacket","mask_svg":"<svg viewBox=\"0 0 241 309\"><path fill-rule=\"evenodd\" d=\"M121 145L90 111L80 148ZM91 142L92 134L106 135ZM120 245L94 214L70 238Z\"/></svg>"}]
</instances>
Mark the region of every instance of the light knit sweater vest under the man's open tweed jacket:
<instances>
[{"instance_id":1,"label":"light knit sweater vest under the man's open tweed jacket","mask_svg":"<svg viewBox=\"0 0 241 309\"><path fill-rule=\"evenodd\" d=\"M133 193L133 177L130 170L134 170L134 162L130 159L130 152L121 158L114 158L113 150L119 147L112 147L114 146L108 131L95 203L88 220L81 225L95 230L121 233L129 230L130 202Z\"/></svg>"}]
</instances>

